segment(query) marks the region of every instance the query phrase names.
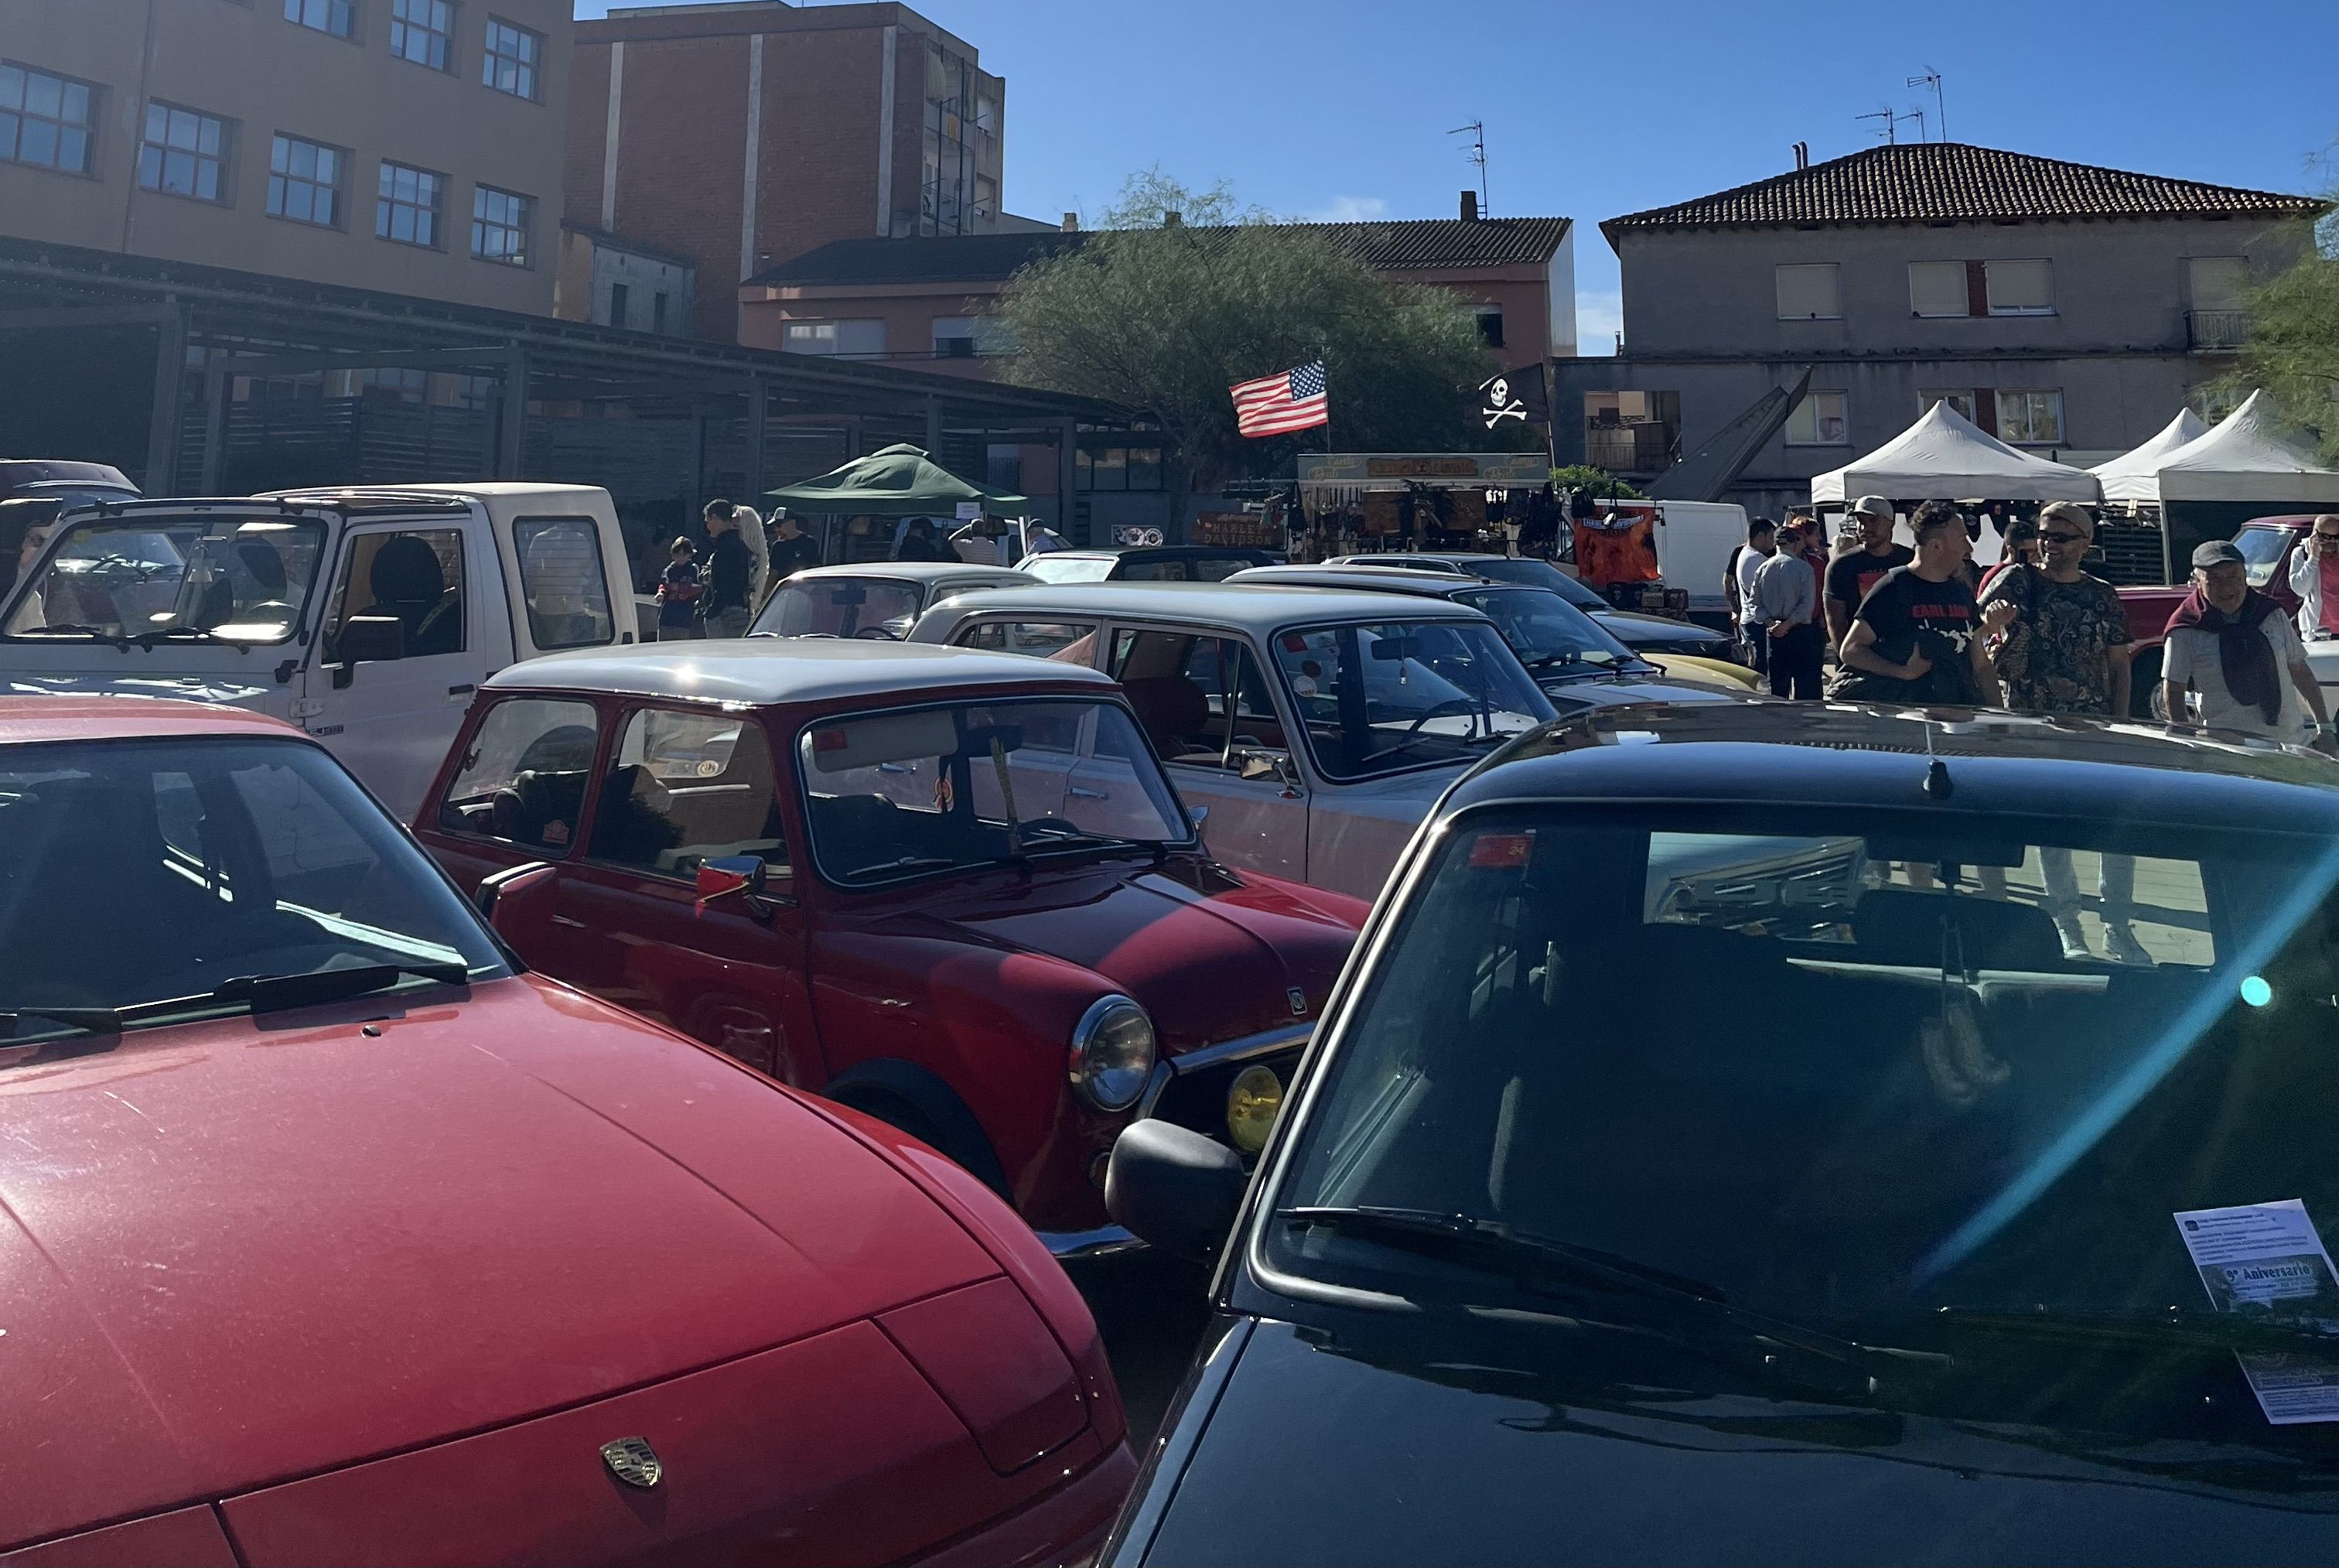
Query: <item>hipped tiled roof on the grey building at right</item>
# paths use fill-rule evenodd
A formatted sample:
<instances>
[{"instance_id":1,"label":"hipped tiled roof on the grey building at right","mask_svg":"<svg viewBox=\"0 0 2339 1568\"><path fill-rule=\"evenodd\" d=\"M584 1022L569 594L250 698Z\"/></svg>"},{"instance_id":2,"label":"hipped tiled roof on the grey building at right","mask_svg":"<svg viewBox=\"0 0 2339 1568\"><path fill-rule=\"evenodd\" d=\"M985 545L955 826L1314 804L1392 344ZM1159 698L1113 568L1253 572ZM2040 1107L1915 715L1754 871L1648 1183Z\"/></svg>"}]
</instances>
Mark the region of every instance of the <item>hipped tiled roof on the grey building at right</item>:
<instances>
[{"instance_id":1,"label":"hipped tiled roof on the grey building at right","mask_svg":"<svg viewBox=\"0 0 2339 1568\"><path fill-rule=\"evenodd\" d=\"M1902 143L1609 218L1628 229L1717 229L1780 222L1939 222L2021 218L2306 218L2325 201L2201 180L2171 180L1967 143Z\"/></svg>"}]
</instances>

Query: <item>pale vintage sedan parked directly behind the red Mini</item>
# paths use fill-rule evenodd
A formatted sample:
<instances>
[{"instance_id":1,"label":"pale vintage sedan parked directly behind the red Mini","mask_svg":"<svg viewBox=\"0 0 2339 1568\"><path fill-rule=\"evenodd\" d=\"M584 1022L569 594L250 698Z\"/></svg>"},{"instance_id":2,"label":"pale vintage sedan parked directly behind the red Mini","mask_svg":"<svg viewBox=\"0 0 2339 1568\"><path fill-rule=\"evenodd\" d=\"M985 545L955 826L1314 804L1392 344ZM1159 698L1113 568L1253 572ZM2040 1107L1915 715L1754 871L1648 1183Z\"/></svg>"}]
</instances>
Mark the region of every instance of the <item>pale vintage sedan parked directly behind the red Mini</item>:
<instances>
[{"instance_id":1,"label":"pale vintage sedan parked directly behind the red Mini","mask_svg":"<svg viewBox=\"0 0 2339 1568\"><path fill-rule=\"evenodd\" d=\"M910 641L1123 683L1230 866L1373 899L1471 763L1553 707L1478 611L1317 587L1083 583L959 594Z\"/></svg>"}]
</instances>

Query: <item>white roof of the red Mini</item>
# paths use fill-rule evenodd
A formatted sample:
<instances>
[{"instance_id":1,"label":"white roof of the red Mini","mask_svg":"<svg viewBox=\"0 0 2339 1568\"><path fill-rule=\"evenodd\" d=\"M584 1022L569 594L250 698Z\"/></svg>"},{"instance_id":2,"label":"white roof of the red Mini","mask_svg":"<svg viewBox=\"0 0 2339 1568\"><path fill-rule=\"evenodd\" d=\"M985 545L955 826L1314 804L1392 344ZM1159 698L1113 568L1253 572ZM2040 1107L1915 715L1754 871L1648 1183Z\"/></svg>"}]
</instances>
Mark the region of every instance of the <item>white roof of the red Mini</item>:
<instances>
[{"instance_id":1,"label":"white roof of the red Mini","mask_svg":"<svg viewBox=\"0 0 2339 1568\"><path fill-rule=\"evenodd\" d=\"M620 648L575 648L508 665L487 690L606 690L695 702L833 702L915 697L940 686L1041 686L1074 681L1113 690L1085 665L1024 653L933 644L755 637Z\"/></svg>"}]
</instances>

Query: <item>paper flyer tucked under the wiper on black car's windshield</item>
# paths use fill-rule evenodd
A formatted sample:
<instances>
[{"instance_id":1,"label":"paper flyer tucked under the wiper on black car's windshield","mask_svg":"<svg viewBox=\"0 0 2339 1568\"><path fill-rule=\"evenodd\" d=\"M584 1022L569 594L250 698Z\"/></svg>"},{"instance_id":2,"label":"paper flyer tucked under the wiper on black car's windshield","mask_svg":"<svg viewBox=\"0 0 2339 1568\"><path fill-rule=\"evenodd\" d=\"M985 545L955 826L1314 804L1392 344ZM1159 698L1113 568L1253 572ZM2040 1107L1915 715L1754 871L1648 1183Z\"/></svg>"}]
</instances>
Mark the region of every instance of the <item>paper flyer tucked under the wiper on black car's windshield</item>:
<instances>
[{"instance_id":1,"label":"paper flyer tucked under the wiper on black car's windshield","mask_svg":"<svg viewBox=\"0 0 2339 1568\"><path fill-rule=\"evenodd\" d=\"M2339 1332L2339 1273L2297 1198L2178 1212L2185 1250L2210 1306ZM2339 1421L2339 1355L2236 1355L2274 1425Z\"/></svg>"}]
</instances>

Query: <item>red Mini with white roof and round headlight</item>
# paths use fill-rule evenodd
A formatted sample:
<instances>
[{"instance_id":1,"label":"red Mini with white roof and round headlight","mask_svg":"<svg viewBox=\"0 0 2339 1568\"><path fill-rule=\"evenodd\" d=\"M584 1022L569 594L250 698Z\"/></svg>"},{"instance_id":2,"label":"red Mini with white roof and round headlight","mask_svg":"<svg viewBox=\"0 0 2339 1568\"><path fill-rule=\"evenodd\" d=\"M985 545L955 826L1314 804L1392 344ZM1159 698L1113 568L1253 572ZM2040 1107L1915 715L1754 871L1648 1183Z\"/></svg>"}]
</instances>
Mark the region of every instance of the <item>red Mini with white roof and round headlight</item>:
<instances>
[{"instance_id":1,"label":"red Mini with white roof and round headlight","mask_svg":"<svg viewBox=\"0 0 2339 1568\"><path fill-rule=\"evenodd\" d=\"M1209 716L1198 718L1209 723ZM545 974L1130 1245L1158 1114L1244 1151L1364 903L1216 866L1106 676L924 644L557 653L479 688L416 826Z\"/></svg>"}]
</instances>

